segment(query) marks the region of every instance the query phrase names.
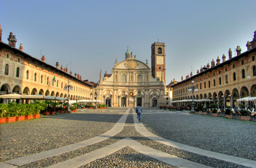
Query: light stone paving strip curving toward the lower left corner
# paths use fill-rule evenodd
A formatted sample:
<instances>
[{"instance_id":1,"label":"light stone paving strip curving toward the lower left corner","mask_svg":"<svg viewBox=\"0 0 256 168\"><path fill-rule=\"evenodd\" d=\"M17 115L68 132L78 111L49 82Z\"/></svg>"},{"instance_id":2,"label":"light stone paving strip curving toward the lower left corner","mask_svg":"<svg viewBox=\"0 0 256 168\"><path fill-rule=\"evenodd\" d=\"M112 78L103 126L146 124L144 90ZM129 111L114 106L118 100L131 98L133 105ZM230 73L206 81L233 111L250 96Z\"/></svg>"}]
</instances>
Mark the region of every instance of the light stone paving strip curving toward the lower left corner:
<instances>
[{"instance_id":1,"label":"light stone paving strip curving toward the lower left corner","mask_svg":"<svg viewBox=\"0 0 256 168\"><path fill-rule=\"evenodd\" d=\"M90 138L89 140L85 140L83 142L73 143L71 145L62 146L60 148L55 148L53 150L43 151L41 153L31 154L29 156L12 159L12 160L5 161L5 162L8 164L16 165L16 166L22 166L23 164L28 164L30 162L39 161L39 160L45 159L45 158L50 158L50 157L56 156L58 154L66 153L68 151L73 151L78 148L93 145L94 143L98 143L103 140L106 140L107 138L113 137L114 135L121 132L122 128L124 127L124 123L126 122L126 118L129 114L129 111L130 111L130 108L126 111L126 113L124 113L124 115L119 119L119 121L116 122L116 124L114 125L114 127L111 130L109 130L108 132L106 132L102 135L99 135L94 138ZM6 165L6 164L4 164L4 165ZM6 166L4 166L4 165L3 166L0 165L1 168L8 168L7 167L8 165L6 165Z\"/></svg>"}]
</instances>

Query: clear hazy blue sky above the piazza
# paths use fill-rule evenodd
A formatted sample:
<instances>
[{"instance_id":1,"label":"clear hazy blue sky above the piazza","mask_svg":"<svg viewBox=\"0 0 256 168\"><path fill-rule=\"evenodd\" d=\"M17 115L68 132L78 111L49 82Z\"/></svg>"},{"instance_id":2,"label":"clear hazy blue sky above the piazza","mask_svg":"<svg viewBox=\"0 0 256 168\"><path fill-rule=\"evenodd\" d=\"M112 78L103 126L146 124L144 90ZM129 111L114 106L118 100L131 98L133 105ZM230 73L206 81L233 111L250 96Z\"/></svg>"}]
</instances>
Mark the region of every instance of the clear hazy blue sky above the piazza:
<instances>
[{"instance_id":1,"label":"clear hazy blue sky above the piazza","mask_svg":"<svg viewBox=\"0 0 256 168\"><path fill-rule=\"evenodd\" d=\"M240 46L256 31L255 0L65 1L0 0L2 41L12 32L16 47L55 66L68 65L82 79L98 82L112 73L127 46L151 65L151 44L166 44L166 84L196 74L212 59ZM151 68L151 67L150 67Z\"/></svg>"}]
</instances>

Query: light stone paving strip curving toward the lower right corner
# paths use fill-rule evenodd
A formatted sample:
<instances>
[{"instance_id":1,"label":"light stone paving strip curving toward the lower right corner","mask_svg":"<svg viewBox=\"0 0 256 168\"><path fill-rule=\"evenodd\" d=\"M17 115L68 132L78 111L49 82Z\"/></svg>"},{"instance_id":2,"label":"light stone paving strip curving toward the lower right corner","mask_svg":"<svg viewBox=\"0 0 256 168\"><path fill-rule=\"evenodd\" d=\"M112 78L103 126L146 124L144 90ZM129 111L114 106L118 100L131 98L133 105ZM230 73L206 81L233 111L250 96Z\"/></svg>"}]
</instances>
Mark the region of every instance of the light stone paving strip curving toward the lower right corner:
<instances>
[{"instance_id":1,"label":"light stone paving strip curving toward the lower right corner","mask_svg":"<svg viewBox=\"0 0 256 168\"><path fill-rule=\"evenodd\" d=\"M242 166L255 167L256 168L256 161L251 161L249 159L244 159L244 158L238 158L238 157L235 157L235 156L229 156L229 155L221 154L221 153L215 153L215 152L212 152L212 151L201 150L199 148L194 148L192 146L183 145L181 143L173 142L171 140L167 140L165 138L158 137L158 136L152 134L151 132L149 132L143 126L142 123L137 123L138 122L137 114L135 113L134 109L132 109L132 113L134 114L134 124L135 124L136 131L139 134L142 134L143 136L145 136L147 138L150 138L151 140L162 143L164 145L172 146L174 148L178 148L180 150L189 151L191 153L196 153L196 154L200 154L200 155L207 156L207 157L210 157L210 158L219 159L221 161L233 162L234 164L240 164Z\"/></svg>"}]
</instances>

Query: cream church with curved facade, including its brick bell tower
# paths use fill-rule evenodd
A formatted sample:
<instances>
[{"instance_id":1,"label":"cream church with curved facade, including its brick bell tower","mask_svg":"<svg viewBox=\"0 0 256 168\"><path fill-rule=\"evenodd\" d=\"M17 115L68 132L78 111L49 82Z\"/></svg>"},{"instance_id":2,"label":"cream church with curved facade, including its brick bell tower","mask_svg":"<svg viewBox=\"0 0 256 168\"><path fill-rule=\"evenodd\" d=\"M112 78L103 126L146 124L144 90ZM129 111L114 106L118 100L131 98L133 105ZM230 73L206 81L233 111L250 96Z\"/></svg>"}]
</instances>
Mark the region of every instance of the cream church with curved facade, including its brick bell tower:
<instances>
[{"instance_id":1,"label":"cream church with curved facade, including its brick bell tower","mask_svg":"<svg viewBox=\"0 0 256 168\"><path fill-rule=\"evenodd\" d=\"M166 103L165 44L154 42L151 45L151 68L148 60L146 63L137 60L128 49L125 55L122 62L116 60L111 74L105 73L102 77L100 71L97 99L113 107L133 107L138 103L145 107L163 106Z\"/></svg>"}]
</instances>

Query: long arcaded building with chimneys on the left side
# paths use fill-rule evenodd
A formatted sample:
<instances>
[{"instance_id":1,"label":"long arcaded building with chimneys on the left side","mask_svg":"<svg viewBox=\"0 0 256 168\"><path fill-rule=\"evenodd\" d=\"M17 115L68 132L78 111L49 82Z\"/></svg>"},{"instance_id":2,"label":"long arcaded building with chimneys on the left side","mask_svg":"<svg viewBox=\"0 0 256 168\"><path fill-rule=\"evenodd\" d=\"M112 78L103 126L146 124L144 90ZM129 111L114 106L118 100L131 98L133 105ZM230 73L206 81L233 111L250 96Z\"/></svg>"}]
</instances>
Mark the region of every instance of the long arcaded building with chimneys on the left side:
<instances>
[{"instance_id":1,"label":"long arcaded building with chimneys on the left side","mask_svg":"<svg viewBox=\"0 0 256 168\"><path fill-rule=\"evenodd\" d=\"M23 52L20 44L17 49L17 39L13 33L7 38L9 44L2 42L2 29L0 26L0 89L1 94L25 94L25 95L52 95L54 97L67 98L68 90L64 87L70 85L71 100L92 99L92 86L82 81L79 74L68 73L68 67L63 68L57 62L55 66L45 62L46 57L41 60ZM7 100L0 100L7 103Z\"/></svg>"}]
</instances>

